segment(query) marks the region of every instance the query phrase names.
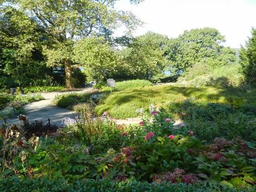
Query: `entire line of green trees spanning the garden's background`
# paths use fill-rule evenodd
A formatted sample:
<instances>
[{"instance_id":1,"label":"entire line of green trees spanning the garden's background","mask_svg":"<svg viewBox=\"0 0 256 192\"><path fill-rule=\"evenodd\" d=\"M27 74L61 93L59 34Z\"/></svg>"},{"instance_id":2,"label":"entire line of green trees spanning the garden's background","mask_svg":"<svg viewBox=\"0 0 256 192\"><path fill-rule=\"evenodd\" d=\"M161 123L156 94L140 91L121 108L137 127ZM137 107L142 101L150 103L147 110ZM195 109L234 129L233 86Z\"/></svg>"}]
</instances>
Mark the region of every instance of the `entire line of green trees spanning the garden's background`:
<instances>
[{"instance_id":1,"label":"entire line of green trees spanning the garden's background","mask_svg":"<svg viewBox=\"0 0 256 192\"><path fill-rule=\"evenodd\" d=\"M199 76L205 81L205 74L212 78L209 74L216 68L235 68L245 82L255 83L255 29L237 63L235 51L223 46L225 38L214 28L191 29L178 38L153 32L132 37L142 22L130 12L116 10L115 2L3 1L0 87L15 86L20 79L24 86L65 83L72 88L82 86L85 76L97 82L107 78L159 82L178 77L190 81ZM126 33L115 37L115 29L122 25Z\"/></svg>"}]
</instances>

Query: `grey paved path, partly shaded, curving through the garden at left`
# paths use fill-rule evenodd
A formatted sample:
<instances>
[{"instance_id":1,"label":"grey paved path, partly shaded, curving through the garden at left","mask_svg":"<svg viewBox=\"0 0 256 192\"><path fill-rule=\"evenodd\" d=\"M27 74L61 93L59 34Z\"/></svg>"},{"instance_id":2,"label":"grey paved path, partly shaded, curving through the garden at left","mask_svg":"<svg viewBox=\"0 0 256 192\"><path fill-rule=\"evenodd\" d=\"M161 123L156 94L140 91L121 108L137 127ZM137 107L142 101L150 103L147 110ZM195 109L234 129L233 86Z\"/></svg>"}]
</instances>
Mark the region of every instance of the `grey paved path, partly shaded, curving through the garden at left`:
<instances>
[{"instance_id":1,"label":"grey paved path, partly shaded, curving through the garden at left","mask_svg":"<svg viewBox=\"0 0 256 192\"><path fill-rule=\"evenodd\" d=\"M49 92L41 93L45 100L32 102L31 104L25 105L24 109L26 111L26 116L29 121L41 120L46 121L51 119L56 125L61 125L61 122L66 119L66 117L75 117L79 115L78 112L71 111L68 109L63 109L52 104L52 100L55 99L57 95L67 94L71 92L76 93L86 93L91 92L92 88L84 88L79 91L66 91L66 92ZM12 123L21 123L21 121L16 119L9 120Z\"/></svg>"}]
</instances>

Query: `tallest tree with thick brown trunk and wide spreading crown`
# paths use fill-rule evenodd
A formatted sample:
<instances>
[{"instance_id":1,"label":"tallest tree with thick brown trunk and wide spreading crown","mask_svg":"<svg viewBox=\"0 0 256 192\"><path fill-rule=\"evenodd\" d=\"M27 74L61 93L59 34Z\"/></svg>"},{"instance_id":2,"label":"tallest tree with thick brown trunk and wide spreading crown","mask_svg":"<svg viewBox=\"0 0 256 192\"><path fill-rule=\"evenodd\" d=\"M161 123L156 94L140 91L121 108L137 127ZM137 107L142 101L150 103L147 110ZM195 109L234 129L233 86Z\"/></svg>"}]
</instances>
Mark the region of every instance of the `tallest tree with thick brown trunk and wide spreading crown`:
<instances>
[{"instance_id":1,"label":"tallest tree with thick brown trunk and wide spreading crown","mask_svg":"<svg viewBox=\"0 0 256 192\"><path fill-rule=\"evenodd\" d=\"M14 0L11 2L13 8L33 18L47 32L48 38L44 47L47 64L65 66L67 88L72 88L73 46L77 40L89 36L109 38L121 24L124 24L127 32L130 32L140 23L132 13L117 11L114 8L115 0ZM130 2L140 1L130 0Z\"/></svg>"}]
</instances>

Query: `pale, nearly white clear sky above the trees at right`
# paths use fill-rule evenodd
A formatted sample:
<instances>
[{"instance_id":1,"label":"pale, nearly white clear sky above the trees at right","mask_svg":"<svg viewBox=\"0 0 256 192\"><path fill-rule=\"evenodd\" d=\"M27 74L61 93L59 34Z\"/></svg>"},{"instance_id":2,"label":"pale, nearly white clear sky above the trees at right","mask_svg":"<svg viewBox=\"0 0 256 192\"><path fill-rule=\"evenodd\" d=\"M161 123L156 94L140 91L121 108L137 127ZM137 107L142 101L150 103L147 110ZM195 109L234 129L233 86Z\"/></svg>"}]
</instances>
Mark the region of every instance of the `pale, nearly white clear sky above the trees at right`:
<instances>
[{"instance_id":1,"label":"pale, nearly white clear sky above the trees at right","mask_svg":"<svg viewBox=\"0 0 256 192\"><path fill-rule=\"evenodd\" d=\"M120 0L115 8L131 11L145 22L134 36L152 31L175 38L185 30L213 27L225 36L225 46L239 48L256 28L256 0L144 0L138 5ZM115 35L123 32L119 29Z\"/></svg>"}]
</instances>

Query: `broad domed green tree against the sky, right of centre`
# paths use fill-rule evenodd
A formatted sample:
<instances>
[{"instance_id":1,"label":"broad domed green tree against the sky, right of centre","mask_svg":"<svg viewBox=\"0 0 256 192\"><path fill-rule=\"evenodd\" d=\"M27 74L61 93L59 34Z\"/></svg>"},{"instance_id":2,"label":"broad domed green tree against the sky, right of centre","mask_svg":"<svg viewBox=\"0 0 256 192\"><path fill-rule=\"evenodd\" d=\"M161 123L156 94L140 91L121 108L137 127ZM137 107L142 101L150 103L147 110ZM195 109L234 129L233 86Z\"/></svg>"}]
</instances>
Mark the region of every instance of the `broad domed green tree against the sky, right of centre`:
<instances>
[{"instance_id":1,"label":"broad domed green tree against the sky, right of centre","mask_svg":"<svg viewBox=\"0 0 256 192\"><path fill-rule=\"evenodd\" d=\"M235 52L223 47L224 42L224 36L214 28L184 31L166 46L170 67L174 73L181 74L195 63L205 63L210 67L228 65L235 61Z\"/></svg>"}]
</instances>

